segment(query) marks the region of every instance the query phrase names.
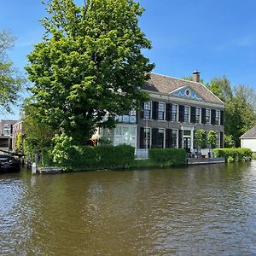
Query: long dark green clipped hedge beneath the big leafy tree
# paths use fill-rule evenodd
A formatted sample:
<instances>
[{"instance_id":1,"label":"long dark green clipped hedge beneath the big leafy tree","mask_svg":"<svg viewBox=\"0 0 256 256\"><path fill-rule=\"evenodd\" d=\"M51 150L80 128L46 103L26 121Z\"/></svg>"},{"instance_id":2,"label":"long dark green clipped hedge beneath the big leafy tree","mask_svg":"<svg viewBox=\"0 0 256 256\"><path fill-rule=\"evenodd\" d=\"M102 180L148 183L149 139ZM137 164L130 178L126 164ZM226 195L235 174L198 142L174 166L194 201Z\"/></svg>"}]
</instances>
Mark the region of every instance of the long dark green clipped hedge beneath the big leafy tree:
<instances>
[{"instance_id":1,"label":"long dark green clipped hedge beneath the big leafy tree","mask_svg":"<svg viewBox=\"0 0 256 256\"><path fill-rule=\"evenodd\" d=\"M55 164L66 172L128 168L134 162L134 148L128 145L70 146L65 151Z\"/></svg>"}]
</instances>

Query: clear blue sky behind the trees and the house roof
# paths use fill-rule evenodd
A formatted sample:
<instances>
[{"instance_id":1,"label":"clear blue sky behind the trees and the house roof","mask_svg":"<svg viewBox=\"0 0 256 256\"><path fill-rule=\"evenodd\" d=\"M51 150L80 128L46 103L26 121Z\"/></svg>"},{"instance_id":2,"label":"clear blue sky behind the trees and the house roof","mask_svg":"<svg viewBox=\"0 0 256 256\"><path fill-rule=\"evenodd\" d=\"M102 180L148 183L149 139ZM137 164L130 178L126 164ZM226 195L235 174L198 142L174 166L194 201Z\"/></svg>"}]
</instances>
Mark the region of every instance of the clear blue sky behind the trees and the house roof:
<instances>
[{"instance_id":1,"label":"clear blue sky behind the trees and the house roof","mask_svg":"<svg viewBox=\"0 0 256 256\"><path fill-rule=\"evenodd\" d=\"M81 5L84 0L75 0ZM143 51L154 62L154 73L183 78L195 69L205 82L226 76L231 85L256 90L256 1L254 0L139 0L145 12L139 25L152 42ZM16 36L9 57L24 72L26 55L42 40L40 0L0 0L0 30ZM26 96L27 93L24 94ZM18 119L0 112L0 119Z\"/></svg>"}]
</instances>

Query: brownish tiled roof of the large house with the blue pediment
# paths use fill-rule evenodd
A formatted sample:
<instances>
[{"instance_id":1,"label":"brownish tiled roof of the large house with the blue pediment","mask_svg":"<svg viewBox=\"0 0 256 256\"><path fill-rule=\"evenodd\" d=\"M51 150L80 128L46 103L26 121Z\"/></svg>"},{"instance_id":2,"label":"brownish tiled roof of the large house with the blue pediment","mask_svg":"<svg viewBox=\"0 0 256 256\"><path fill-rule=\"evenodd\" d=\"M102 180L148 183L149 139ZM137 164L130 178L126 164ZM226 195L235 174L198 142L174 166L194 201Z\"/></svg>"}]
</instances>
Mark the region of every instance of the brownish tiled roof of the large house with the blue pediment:
<instances>
[{"instance_id":1,"label":"brownish tiled roof of the large house with the blue pediment","mask_svg":"<svg viewBox=\"0 0 256 256\"><path fill-rule=\"evenodd\" d=\"M224 102L212 94L210 90L207 90L207 88L201 83L196 83L184 79L175 79L156 73L151 73L150 77L151 78L148 80L148 84L146 84L143 88L144 90L160 92L168 95L173 90L177 90L183 86L189 86L198 95L200 95L205 100L205 102L224 105Z\"/></svg>"}]
</instances>

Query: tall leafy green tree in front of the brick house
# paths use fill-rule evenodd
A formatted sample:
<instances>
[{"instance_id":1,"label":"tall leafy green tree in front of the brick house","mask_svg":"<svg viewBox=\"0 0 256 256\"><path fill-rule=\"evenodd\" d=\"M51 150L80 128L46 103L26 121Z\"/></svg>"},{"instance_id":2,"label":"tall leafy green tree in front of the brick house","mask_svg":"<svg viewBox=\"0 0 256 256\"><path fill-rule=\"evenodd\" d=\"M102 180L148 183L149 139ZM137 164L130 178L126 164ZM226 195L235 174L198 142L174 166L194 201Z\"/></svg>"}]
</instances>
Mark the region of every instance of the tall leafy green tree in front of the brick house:
<instances>
[{"instance_id":1,"label":"tall leafy green tree in front of the brick house","mask_svg":"<svg viewBox=\"0 0 256 256\"><path fill-rule=\"evenodd\" d=\"M138 26L143 9L132 0L44 4L44 38L26 67L32 104L40 122L84 143L96 126L113 127L115 114L147 99L141 89L154 65L142 53L151 48Z\"/></svg>"}]
</instances>

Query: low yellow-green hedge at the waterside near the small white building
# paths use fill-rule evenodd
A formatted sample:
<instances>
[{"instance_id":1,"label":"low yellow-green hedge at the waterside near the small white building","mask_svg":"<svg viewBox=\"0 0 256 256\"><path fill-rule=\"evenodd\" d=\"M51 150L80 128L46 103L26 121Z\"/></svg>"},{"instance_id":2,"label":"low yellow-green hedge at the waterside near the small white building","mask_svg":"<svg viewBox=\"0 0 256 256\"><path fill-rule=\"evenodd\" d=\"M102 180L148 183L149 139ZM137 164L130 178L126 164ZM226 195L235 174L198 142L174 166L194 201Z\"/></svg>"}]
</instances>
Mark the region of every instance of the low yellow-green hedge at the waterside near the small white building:
<instances>
[{"instance_id":1,"label":"low yellow-green hedge at the waterside near the small white building","mask_svg":"<svg viewBox=\"0 0 256 256\"><path fill-rule=\"evenodd\" d=\"M237 162L247 161L252 158L253 151L250 148L214 148L213 154L216 157L224 157L225 161L231 159Z\"/></svg>"}]
</instances>

